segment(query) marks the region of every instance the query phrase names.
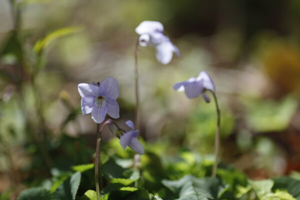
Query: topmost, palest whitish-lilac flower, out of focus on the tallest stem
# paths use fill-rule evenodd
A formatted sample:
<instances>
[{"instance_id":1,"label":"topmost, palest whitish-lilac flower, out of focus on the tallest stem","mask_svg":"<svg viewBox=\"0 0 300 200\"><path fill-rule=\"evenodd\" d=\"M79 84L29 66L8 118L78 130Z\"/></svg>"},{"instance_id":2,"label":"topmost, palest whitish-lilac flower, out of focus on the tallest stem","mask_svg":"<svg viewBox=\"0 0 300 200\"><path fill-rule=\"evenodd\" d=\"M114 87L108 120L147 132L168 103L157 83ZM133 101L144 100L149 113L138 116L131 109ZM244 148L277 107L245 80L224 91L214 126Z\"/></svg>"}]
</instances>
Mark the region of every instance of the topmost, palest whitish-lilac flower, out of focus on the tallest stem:
<instances>
[{"instance_id":1,"label":"topmost, palest whitish-lilac flower, out of focus on the tallest stem","mask_svg":"<svg viewBox=\"0 0 300 200\"><path fill-rule=\"evenodd\" d=\"M158 21L142 21L135 32L139 34L141 46L153 45L156 49L156 59L167 64L171 61L173 52L180 56L178 48L163 34L163 25Z\"/></svg>"}]
</instances>

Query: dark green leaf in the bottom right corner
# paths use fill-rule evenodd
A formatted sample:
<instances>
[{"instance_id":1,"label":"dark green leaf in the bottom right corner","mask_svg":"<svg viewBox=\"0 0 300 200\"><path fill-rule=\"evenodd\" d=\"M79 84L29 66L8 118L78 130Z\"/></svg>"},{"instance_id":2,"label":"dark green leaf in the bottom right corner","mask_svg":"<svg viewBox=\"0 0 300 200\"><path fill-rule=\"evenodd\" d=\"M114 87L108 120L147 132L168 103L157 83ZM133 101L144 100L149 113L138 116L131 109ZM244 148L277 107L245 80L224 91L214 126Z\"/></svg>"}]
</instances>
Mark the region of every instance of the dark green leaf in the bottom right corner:
<instances>
[{"instance_id":1,"label":"dark green leaf in the bottom right corner","mask_svg":"<svg viewBox=\"0 0 300 200\"><path fill-rule=\"evenodd\" d=\"M291 177L279 177L273 178L274 186L272 187L273 191L287 190L293 197L297 200L300 200L300 180L296 180Z\"/></svg>"}]
</instances>

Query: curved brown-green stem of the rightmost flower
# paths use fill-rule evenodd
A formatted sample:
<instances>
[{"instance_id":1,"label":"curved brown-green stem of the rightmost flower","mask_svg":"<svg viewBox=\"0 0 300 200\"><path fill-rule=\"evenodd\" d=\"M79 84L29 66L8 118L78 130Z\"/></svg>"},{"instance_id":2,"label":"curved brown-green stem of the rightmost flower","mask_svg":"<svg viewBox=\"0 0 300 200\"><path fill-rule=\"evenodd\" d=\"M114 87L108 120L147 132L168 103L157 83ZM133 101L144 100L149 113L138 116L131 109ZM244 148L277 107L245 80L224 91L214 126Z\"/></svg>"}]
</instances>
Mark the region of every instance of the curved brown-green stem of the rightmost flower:
<instances>
[{"instance_id":1,"label":"curved brown-green stem of the rightmost flower","mask_svg":"<svg viewBox=\"0 0 300 200\"><path fill-rule=\"evenodd\" d=\"M214 102L215 102L215 108L216 108L216 114L217 114L217 121L216 121L216 130L215 130L215 140L214 140L214 163L213 163L213 167L212 167L212 173L211 173L211 177L215 177L216 175L216 169L217 169L217 163L218 163L218 157L219 157L219 151L220 151L220 122L221 122L221 115L220 115L220 109L217 103L217 98L216 98L216 94L209 90L214 98Z\"/></svg>"}]
</instances>

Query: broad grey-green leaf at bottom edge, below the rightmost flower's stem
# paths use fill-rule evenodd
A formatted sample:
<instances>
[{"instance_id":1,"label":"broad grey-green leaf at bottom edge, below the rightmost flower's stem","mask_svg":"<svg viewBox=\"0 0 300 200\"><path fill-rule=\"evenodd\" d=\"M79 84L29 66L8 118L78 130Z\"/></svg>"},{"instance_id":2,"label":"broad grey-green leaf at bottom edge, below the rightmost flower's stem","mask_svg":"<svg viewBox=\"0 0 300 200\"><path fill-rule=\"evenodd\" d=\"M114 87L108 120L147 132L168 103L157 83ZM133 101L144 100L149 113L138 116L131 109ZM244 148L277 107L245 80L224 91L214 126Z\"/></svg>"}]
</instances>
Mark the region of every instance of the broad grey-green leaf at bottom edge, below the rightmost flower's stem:
<instances>
[{"instance_id":1,"label":"broad grey-green leaf at bottom edge, below the rightmost flower's stem","mask_svg":"<svg viewBox=\"0 0 300 200\"><path fill-rule=\"evenodd\" d=\"M217 178L196 178L186 175L179 180L162 180L178 200L219 198L228 188Z\"/></svg>"}]
</instances>

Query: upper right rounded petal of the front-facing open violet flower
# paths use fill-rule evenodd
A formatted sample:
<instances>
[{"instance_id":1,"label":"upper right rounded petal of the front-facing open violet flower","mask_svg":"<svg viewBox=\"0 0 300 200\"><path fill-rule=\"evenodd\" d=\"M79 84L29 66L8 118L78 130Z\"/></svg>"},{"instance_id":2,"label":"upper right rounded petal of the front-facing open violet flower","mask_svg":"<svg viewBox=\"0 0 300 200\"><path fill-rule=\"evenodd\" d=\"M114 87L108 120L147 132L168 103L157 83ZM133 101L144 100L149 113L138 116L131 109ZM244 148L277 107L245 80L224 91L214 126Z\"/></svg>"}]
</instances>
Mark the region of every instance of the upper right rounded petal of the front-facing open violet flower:
<instances>
[{"instance_id":1,"label":"upper right rounded petal of the front-facing open violet flower","mask_svg":"<svg viewBox=\"0 0 300 200\"><path fill-rule=\"evenodd\" d=\"M99 95L105 96L106 98L116 99L119 94L118 84L116 79L109 76L102 80L99 85Z\"/></svg>"}]
</instances>

